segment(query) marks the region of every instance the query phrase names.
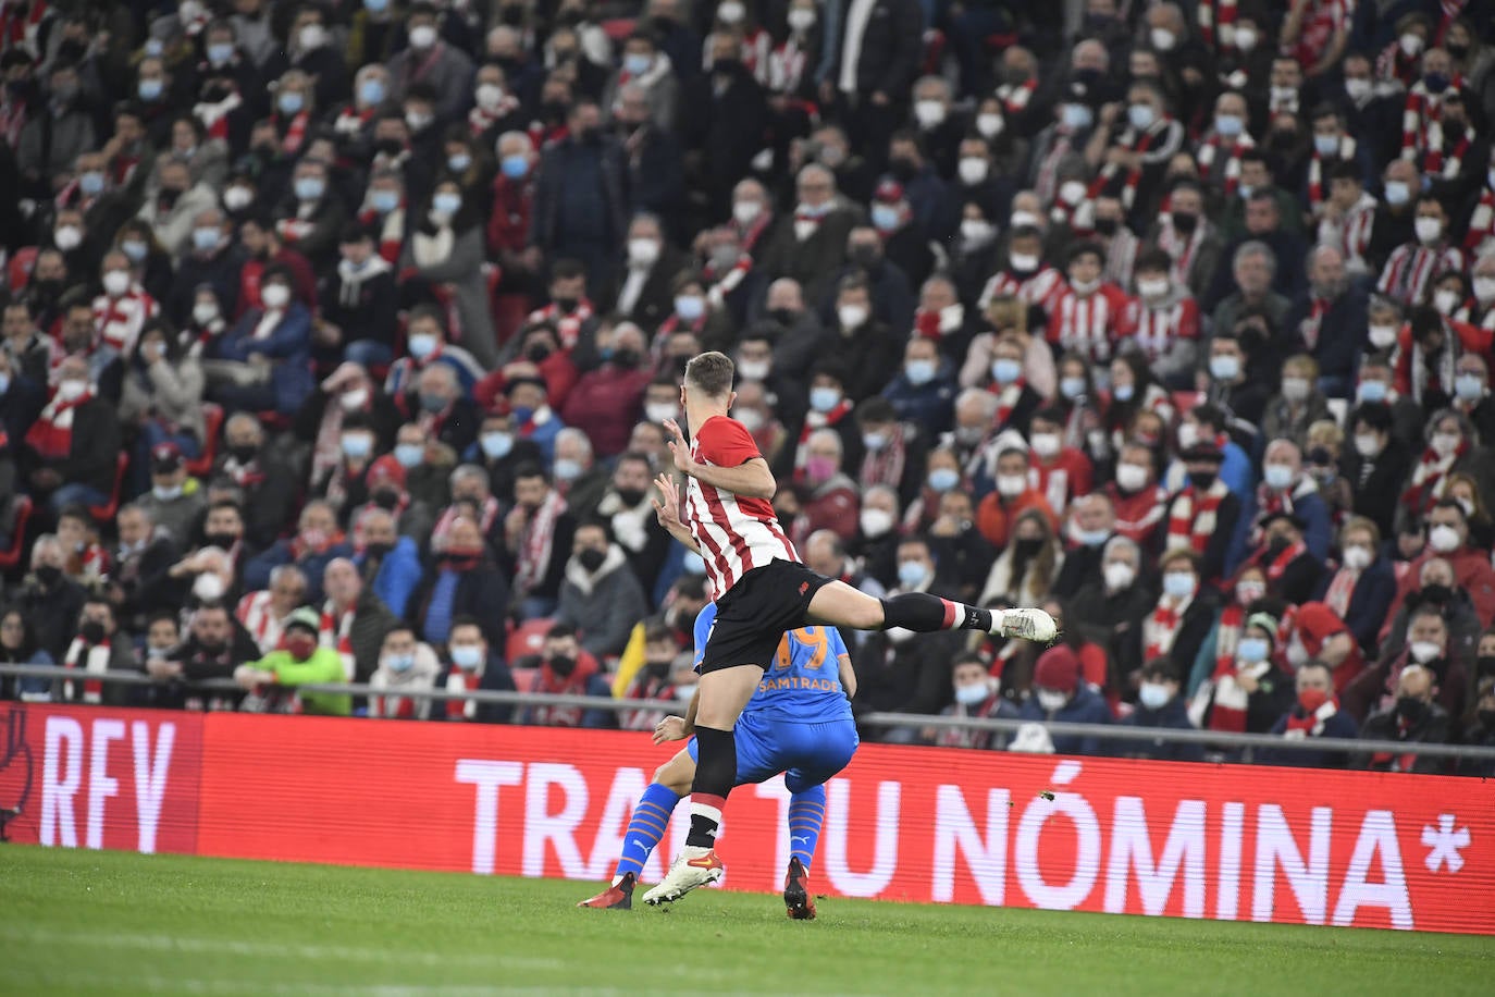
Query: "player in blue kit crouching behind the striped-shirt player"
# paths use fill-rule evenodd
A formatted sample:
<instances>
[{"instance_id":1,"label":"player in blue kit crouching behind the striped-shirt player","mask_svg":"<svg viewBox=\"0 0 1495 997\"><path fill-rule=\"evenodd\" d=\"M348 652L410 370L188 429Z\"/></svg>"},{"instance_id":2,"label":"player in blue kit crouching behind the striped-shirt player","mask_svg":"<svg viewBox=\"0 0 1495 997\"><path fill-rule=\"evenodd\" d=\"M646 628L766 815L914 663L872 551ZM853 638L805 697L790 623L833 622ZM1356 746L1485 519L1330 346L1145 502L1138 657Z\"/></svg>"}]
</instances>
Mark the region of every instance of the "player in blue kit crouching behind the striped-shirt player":
<instances>
[{"instance_id":1,"label":"player in blue kit crouching behind the striped-shirt player","mask_svg":"<svg viewBox=\"0 0 1495 997\"><path fill-rule=\"evenodd\" d=\"M695 665L716 622L710 604L695 619ZM789 868L783 877L783 904L791 918L815 918L809 868L825 822L825 780L839 773L857 752L857 725L849 697L857 691L851 655L833 626L803 626L779 641L773 665L758 683L758 692L737 717L737 785L765 782L785 774L789 798ZM667 716L655 728L655 744L691 734L697 701L685 717ZM623 834L623 855L611 885L582 901L580 907L632 907L634 885L670 815L689 792L695 777L695 738L655 771L655 779L634 807ZM719 877L719 876L718 876ZM715 880L713 880L715 882Z\"/></svg>"}]
</instances>

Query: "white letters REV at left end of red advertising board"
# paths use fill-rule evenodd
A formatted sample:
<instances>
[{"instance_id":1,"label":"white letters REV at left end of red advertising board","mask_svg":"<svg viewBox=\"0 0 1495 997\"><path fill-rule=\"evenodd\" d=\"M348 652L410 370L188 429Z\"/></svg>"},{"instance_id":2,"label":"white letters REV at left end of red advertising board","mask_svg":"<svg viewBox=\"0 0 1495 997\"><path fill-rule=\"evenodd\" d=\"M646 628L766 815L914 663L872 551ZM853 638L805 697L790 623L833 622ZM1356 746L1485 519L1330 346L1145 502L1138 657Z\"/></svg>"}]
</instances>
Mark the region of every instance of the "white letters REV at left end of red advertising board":
<instances>
[{"instance_id":1,"label":"white letters REV at left end of red advertising board","mask_svg":"<svg viewBox=\"0 0 1495 997\"><path fill-rule=\"evenodd\" d=\"M151 725L145 720L100 717L87 725L70 716L46 717L46 753L42 764L42 845L78 848L79 806L85 821L84 843L88 848L105 846L105 828L114 821L127 821L118 813L109 813L111 800L120 795L120 780L111 774L111 762L124 761L123 744L127 741L135 773L135 831L136 851L155 851L155 831L161 818L161 801L166 798L166 782L170 776L172 746L176 743L176 725L166 720L157 725L155 744L151 744ZM84 762L87 756L87 764ZM79 794L85 797L81 804Z\"/></svg>"}]
</instances>

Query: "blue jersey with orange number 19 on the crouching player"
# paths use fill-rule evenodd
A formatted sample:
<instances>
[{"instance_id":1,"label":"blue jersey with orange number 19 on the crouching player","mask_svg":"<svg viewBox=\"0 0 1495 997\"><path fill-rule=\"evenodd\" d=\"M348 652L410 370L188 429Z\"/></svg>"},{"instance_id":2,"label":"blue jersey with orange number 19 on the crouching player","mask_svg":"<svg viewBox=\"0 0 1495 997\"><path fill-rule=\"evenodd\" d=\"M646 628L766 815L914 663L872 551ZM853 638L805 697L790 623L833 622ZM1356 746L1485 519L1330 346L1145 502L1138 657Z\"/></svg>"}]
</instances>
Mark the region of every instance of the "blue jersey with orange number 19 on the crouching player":
<instances>
[{"instance_id":1,"label":"blue jersey with orange number 19 on the crouching player","mask_svg":"<svg viewBox=\"0 0 1495 997\"><path fill-rule=\"evenodd\" d=\"M698 670L715 623L716 604L710 602L695 617ZM840 658L846 653L846 644L834 626L788 631L743 713L800 723L852 719L851 703L840 683Z\"/></svg>"}]
</instances>

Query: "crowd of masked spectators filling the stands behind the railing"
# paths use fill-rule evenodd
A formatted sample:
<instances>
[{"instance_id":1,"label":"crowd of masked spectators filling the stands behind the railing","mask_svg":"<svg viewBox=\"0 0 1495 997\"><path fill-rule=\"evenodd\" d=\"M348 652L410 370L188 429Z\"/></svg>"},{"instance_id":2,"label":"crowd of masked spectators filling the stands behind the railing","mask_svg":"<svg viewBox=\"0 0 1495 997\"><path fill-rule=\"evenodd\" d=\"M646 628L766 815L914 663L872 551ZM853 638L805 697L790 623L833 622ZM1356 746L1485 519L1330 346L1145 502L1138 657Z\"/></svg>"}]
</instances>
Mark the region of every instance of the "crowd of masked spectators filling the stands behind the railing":
<instances>
[{"instance_id":1,"label":"crowd of masked spectators filling the stands behind the railing","mask_svg":"<svg viewBox=\"0 0 1495 997\"><path fill-rule=\"evenodd\" d=\"M78 671L7 698L649 729L402 694L689 697L650 480L715 348L815 570L1064 622L848 634L858 712L1495 744L1488 4L0 0L0 659ZM1292 750L1359 735L1405 752Z\"/></svg>"}]
</instances>

